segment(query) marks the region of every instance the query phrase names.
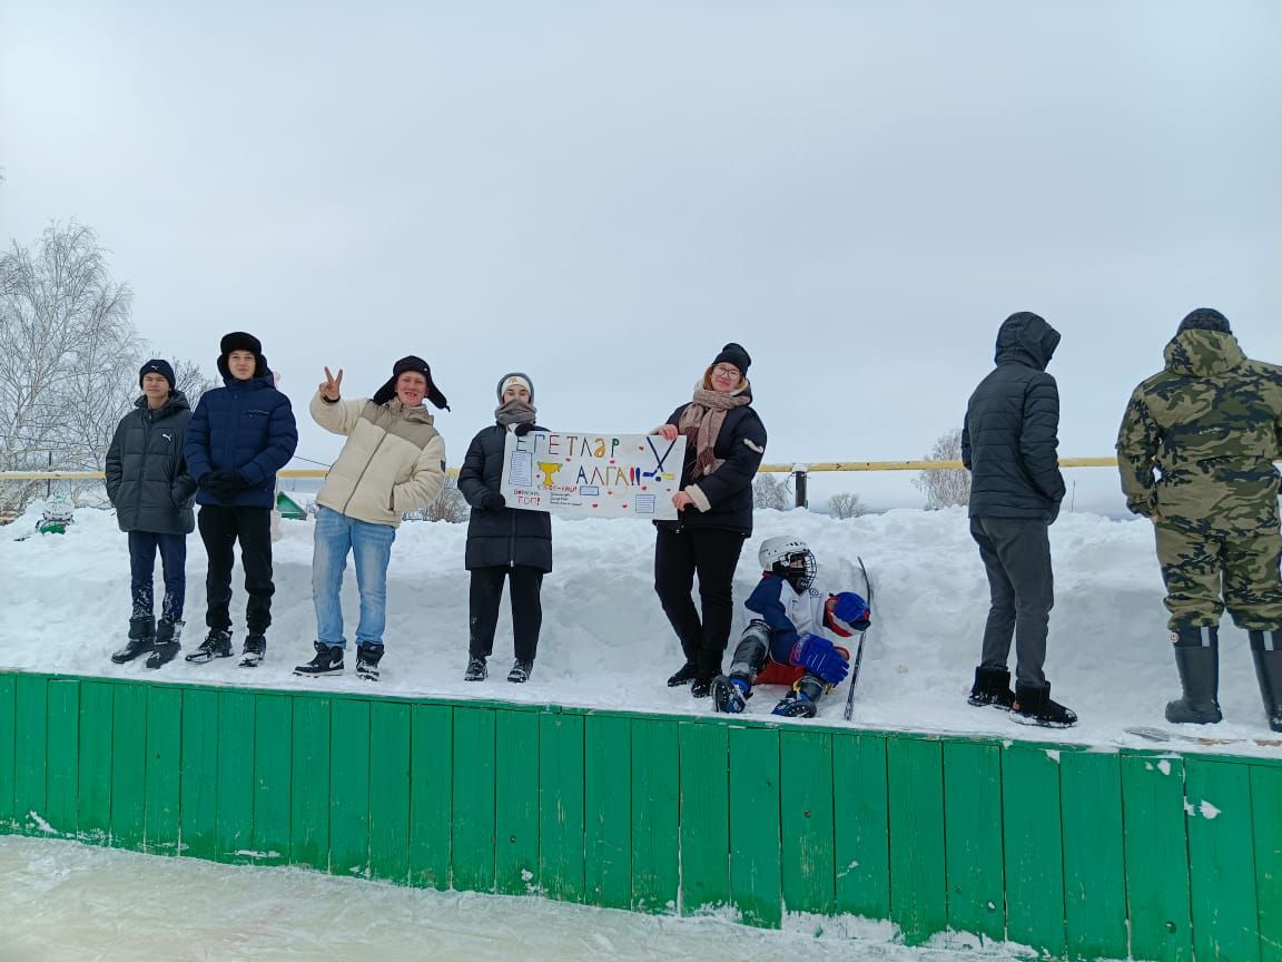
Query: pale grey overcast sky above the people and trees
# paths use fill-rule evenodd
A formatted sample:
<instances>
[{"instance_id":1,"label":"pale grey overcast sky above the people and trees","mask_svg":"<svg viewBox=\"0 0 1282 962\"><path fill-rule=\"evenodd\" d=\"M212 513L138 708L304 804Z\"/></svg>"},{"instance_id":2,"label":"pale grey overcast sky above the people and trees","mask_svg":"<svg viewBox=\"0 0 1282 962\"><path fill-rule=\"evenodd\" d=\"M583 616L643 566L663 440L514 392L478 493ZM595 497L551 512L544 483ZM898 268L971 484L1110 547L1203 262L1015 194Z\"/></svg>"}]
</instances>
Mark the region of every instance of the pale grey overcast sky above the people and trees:
<instances>
[{"instance_id":1,"label":"pale grey overcast sky above the people and trees","mask_svg":"<svg viewBox=\"0 0 1282 962\"><path fill-rule=\"evenodd\" d=\"M322 367L412 353L455 466L506 371L645 431L727 340L785 463L923 455L1015 310L1064 455L1195 307L1282 362L1274 0L0 0L0 240L94 227L209 373L262 337L320 462Z\"/></svg>"}]
</instances>

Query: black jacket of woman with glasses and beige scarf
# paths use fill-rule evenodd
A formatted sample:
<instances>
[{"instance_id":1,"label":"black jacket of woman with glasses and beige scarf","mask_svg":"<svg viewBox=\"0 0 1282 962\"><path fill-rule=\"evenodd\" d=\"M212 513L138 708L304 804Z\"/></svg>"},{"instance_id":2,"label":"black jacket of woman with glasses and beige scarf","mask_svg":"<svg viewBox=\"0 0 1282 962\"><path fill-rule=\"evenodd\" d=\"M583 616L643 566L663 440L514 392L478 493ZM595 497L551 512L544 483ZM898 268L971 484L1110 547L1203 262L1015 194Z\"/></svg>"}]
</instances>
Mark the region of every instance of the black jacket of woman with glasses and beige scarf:
<instances>
[{"instance_id":1,"label":"black jacket of woman with glasses and beige scarf","mask_svg":"<svg viewBox=\"0 0 1282 962\"><path fill-rule=\"evenodd\" d=\"M751 389L749 403L742 408L726 412L720 432L713 444L713 454L724 463L710 475L704 475L694 482L706 499L709 509L700 511L696 503L677 516L677 521L656 521L660 527L679 531L681 528L723 528L753 534L753 478L765 454L765 425L753 410ZM668 418L667 423L681 427L681 416L690 404L682 404ZM681 466L681 489L691 486L690 472L695 467L699 450L694 441L686 441L686 459Z\"/></svg>"}]
</instances>

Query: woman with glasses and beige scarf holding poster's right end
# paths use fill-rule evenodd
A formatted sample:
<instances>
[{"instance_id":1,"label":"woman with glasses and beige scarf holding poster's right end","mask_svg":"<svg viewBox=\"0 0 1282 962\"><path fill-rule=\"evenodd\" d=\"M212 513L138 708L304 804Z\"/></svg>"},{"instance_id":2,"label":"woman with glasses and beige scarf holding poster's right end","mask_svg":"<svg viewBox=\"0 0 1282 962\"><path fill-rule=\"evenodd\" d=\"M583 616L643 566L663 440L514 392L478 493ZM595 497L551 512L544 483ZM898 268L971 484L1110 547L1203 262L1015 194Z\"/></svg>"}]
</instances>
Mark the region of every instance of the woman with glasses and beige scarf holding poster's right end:
<instances>
[{"instance_id":1,"label":"woman with glasses and beige scarf holding poster's right end","mask_svg":"<svg viewBox=\"0 0 1282 962\"><path fill-rule=\"evenodd\" d=\"M727 344L695 385L695 396L651 434L686 436L681 490L672 496L677 521L656 521L654 590L672 623L686 663L668 685L690 685L706 698L722 673L735 620L735 568L753 534L753 478L765 454L765 426L753 410L747 366L738 344ZM691 598L695 575L703 612Z\"/></svg>"}]
</instances>

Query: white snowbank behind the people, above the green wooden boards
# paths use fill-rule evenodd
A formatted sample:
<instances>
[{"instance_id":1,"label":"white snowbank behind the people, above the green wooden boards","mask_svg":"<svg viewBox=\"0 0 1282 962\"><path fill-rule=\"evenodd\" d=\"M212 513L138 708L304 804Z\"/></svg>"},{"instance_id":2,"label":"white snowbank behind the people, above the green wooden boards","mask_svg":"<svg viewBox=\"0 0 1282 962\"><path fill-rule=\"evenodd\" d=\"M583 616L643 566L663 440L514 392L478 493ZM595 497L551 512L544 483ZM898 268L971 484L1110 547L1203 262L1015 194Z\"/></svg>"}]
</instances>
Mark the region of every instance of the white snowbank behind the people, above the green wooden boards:
<instances>
[{"instance_id":1,"label":"white snowbank behind the people, above the green wooden boards","mask_svg":"<svg viewBox=\"0 0 1282 962\"><path fill-rule=\"evenodd\" d=\"M179 657L153 672L141 661L121 667L109 661L124 639L129 616L126 537L114 516L79 509L65 535L14 540L29 532L38 516L35 505L24 518L0 528L0 664L147 681L372 690L350 671L324 680L291 673L294 664L312 657L310 521L285 522L283 539L276 545L274 623L262 667L240 668L235 658L194 666ZM709 712L706 700L696 702L686 689L664 685L682 658L651 586L651 525L631 519L554 519L553 525L555 571L544 582L540 655L527 685L505 680L512 659L506 603L491 679L462 680L468 620L465 525L403 525L392 549L387 655L377 691ZM738 567L737 600L759 576L758 545L779 534L810 544L820 576L833 589L853 577L856 555L872 573L876 625L868 635L853 725L1135 747L1153 743L1128 735L1128 726L1165 725L1163 705L1178 693L1178 681L1146 521L1065 513L1051 528L1056 605L1046 672L1053 695L1081 717L1078 727L1068 731L1017 725L1004 713L965 703L987 613L987 584L964 509L897 509L846 521L805 511L759 512ZM185 650L204 635L204 549L199 536L191 535ZM240 580L237 566L232 600L237 618L245 603ZM158 577L158 594L159 589ZM356 617L350 570L344 605L350 639ZM244 626L237 621L235 630L238 648ZM1205 734L1268 738L1246 635L1226 617L1220 639L1226 721ZM759 691L749 708L764 714L782 693ZM820 705L820 721L842 725L844 703L845 686Z\"/></svg>"}]
</instances>

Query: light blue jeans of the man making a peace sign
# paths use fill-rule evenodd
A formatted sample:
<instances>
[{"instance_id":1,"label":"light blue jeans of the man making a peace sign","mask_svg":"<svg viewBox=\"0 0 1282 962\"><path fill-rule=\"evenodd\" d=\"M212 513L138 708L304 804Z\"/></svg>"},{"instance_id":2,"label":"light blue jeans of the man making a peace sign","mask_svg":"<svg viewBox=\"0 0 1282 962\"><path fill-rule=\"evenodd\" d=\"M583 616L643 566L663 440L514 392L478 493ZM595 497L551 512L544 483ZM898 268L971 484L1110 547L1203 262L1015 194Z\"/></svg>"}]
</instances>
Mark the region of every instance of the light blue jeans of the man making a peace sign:
<instances>
[{"instance_id":1,"label":"light blue jeans of the man making a peace sign","mask_svg":"<svg viewBox=\"0 0 1282 962\"><path fill-rule=\"evenodd\" d=\"M315 549L312 554L312 602L317 609L317 641L345 648L342 636L342 572L347 552L356 566L360 591L360 622L356 643L381 646L387 625L387 562L392 554L396 528L370 525L346 514L320 508L317 512Z\"/></svg>"}]
</instances>

